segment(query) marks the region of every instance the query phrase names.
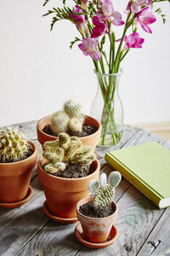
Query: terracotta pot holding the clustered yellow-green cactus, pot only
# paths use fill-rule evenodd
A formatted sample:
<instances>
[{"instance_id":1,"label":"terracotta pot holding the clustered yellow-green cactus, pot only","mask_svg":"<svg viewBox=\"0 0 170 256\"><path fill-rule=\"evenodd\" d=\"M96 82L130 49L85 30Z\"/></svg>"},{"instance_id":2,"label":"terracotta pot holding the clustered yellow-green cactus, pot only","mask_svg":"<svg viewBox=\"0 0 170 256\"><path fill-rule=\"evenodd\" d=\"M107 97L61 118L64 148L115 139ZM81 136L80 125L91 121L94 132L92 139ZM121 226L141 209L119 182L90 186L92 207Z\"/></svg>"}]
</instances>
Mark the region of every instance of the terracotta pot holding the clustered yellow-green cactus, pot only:
<instances>
[{"instance_id":1,"label":"terracotta pot holding the clustered yellow-green cactus, pot only","mask_svg":"<svg viewBox=\"0 0 170 256\"><path fill-rule=\"evenodd\" d=\"M37 163L37 175L48 203L48 209L60 218L77 218L77 202L89 196L88 182L99 177L99 161L94 160L90 168L93 171L86 177L56 177L42 169L47 160L40 158Z\"/></svg>"}]
</instances>

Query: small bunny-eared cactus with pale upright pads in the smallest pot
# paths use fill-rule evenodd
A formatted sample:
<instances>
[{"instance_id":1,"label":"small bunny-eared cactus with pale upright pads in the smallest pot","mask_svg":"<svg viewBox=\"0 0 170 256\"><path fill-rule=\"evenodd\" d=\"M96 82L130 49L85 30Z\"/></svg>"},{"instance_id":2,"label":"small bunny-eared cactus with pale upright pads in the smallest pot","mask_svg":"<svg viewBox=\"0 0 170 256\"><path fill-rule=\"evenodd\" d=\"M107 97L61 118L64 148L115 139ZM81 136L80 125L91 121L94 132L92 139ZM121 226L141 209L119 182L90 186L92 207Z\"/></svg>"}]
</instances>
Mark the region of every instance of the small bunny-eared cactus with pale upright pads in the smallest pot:
<instances>
[{"instance_id":1,"label":"small bunny-eared cactus with pale upright pads in the smallest pot","mask_svg":"<svg viewBox=\"0 0 170 256\"><path fill-rule=\"evenodd\" d=\"M94 195L94 208L105 208L111 205L115 195L115 187L121 182L121 178L120 172L111 172L109 184L107 184L106 174L102 173L99 182L93 179L88 183L88 189Z\"/></svg>"}]
</instances>

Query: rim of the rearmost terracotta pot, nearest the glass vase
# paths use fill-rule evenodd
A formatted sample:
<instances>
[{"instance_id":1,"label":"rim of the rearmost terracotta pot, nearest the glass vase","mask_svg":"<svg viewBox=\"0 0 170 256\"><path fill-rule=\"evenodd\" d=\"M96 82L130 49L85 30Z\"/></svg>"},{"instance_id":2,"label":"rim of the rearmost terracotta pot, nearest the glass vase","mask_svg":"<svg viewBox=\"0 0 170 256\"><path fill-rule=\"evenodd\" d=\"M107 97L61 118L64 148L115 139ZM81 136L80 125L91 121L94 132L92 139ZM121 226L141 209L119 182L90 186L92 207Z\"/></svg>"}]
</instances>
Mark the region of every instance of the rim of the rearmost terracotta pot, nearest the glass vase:
<instances>
[{"instance_id":1,"label":"rim of the rearmost terracotta pot, nearest the glass vase","mask_svg":"<svg viewBox=\"0 0 170 256\"><path fill-rule=\"evenodd\" d=\"M55 137L55 136L53 136L53 135L49 135L49 134L47 134L47 133L45 133L44 131L42 131L42 129L40 129L40 123L41 123L41 121L42 120L44 120L44 119L48 119L50 116L52 116L52 114L49 114L49 115L47 115L47 116L44 116L44 117L42 117L42 119L39 119L38 121L37 121L37 131L40 131L42 134L44 134L45 136L48 136L48 137L53 137L53 138L55 138L55 139L57 139L57 137ZM87 119L94 119L92 116L89 116L89 115L85 115L85 118L87 118ZM99 123L99 121L97 120L97 119L94 119L95 121L96 121L96 123L98 124L98 130L97 131L95 131L93 134L90 134L90 135L88 135L88 136L85 136L85 137L79 137L80 139L83 139L83 138L86 138L86 137L93 137L97 132L99 132L100 130L101 130L101 124ZM44 128L44 127L43 127Z\"/></svg>"}]
</instances>

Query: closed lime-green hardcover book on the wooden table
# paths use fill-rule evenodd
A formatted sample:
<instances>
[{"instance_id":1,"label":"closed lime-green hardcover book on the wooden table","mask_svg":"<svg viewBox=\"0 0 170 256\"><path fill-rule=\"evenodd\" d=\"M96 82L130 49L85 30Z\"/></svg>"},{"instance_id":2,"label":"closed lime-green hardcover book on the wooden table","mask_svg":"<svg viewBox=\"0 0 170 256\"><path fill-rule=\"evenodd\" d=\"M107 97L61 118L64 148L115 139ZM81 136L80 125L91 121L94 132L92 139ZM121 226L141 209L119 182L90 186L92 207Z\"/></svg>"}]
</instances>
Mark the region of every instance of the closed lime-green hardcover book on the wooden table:
<instances>
[{"instance_id":1,"label":"closed lime-green hardcover book on the wooden table","mask_svg":"<svg viewBox=\"0 0 170 256\"><path fill-rule=\"evenodd\" d=\"M157 207L170 206L170 151L151 142L105 154L105 160Z\"/></svg>"}]
</instances>

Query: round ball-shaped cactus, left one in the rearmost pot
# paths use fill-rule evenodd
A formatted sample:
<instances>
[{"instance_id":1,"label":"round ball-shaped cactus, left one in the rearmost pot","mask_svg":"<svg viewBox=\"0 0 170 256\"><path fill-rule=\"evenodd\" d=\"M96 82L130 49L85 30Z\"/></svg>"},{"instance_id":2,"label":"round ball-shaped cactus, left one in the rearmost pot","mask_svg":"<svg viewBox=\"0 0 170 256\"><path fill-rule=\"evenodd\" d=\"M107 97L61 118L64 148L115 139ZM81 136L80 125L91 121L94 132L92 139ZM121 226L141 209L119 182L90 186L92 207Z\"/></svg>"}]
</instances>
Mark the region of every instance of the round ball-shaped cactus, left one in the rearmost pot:
<instances>
[{"instance_id":1,"label":"round ball-shaped cactus, left one in the rearmost pot","mask_svg":"<svg viewBox=\"0 0 170 256\"><path fill-rule=\"evenodd\" d=\"M67 132L70 117L65 111L55 112L51 117L51 129L54 133Z\"/></svg>"}]
</instances>

